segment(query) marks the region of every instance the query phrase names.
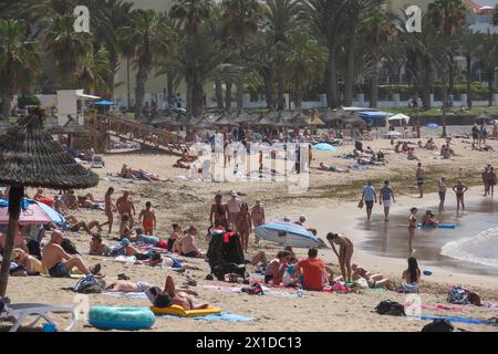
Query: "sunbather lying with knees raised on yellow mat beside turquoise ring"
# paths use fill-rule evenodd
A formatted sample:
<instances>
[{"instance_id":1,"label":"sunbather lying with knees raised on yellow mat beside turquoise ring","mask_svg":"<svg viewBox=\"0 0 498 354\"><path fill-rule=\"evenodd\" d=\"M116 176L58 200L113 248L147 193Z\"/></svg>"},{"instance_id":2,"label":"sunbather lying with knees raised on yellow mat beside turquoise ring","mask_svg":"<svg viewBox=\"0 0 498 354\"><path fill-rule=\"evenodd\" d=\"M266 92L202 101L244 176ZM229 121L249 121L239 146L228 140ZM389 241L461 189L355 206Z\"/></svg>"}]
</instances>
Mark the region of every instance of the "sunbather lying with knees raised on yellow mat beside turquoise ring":
<instances>
[{"instance_id":1,"label":"sunbather lying with knees raised on yellow mat beside turquoise ring","mask_svg":"<svg viewBox=\"0 0 498 354\"><path fill-rule=\"evenodd\" d=\"M172 275L167 275L164 290L159 287L151 287L146 289L145 294L156 308L169 308L170 305L179 305L185 311L203 310L209 308L209 304L195 305L194 299L185 290L176 290Z\"/></svg>"}]
</instances>

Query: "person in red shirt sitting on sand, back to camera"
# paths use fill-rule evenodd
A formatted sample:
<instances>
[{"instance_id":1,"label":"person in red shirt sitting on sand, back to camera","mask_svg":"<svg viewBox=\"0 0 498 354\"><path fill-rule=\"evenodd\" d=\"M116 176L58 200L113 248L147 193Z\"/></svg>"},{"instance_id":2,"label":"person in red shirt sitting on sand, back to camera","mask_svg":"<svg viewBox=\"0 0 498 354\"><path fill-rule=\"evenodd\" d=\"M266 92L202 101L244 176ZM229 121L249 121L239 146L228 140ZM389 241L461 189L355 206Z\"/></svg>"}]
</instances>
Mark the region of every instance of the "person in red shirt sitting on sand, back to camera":
<instances>
[{"instance_id":1,"label":"person in red shirt sitting on sand, back to camera","mask_svg":"<svg viewBox=\"0 0 498 354\"><path fill-rule=\"evenodd\" d=\"M318 258L318 249L310 248L308 258L300 260L295 267L295 278L300 279L302 288L311 291L322 291L325 279L325 263Z\"/></svg>"}]
</instances>

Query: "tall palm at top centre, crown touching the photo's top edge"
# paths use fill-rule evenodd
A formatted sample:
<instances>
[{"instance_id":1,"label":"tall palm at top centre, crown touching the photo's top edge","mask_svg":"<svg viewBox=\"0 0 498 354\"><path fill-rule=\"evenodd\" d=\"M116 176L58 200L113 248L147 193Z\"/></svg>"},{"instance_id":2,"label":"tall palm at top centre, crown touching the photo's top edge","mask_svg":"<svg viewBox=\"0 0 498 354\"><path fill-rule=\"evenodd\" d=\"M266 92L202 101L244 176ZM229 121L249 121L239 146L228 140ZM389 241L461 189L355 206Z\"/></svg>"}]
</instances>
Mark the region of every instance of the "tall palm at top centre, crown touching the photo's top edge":
<instances>
[{"instance_id":1,"label":"tall palm at top centre, crown touching the photo's top edge","mask_svg":"<svg viewBox=\"0 0 498 354\"><path fill-rule=\"evenodd\" d=\"M224 0L222 19L228 34L236 42L237 66L240 75L237 80L237 108L243 104L243 44L246 38L256 33L258 23L262 19L262 9L257 0Z\"/></svg>"}]
</instances>

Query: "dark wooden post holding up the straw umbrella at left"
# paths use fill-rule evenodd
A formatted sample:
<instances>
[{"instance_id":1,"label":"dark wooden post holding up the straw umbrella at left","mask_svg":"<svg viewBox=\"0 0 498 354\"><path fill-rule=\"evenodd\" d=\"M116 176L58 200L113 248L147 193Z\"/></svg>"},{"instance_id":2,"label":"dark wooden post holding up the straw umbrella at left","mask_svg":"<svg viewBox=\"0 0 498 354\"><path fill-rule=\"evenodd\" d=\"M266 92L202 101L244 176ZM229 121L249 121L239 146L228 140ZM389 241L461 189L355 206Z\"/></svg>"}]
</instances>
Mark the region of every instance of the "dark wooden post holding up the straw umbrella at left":
<instances>
[{"instance_id":1,"label":"dark wooden post holding up the straw umbrella at left","mask_svg":"<svg viewBox=\"0 0 498 354\"><path fill-rule=\"evenodd\" d=\"M7 229L6 247L0 272L0 296L6 296L7 283L9 281L10 258L14 246L15 235L18 235L19 215L21 212L21 201L24 196L23 187L11 187L9 190L9 226Z\"/></svg>"}]
</instances>

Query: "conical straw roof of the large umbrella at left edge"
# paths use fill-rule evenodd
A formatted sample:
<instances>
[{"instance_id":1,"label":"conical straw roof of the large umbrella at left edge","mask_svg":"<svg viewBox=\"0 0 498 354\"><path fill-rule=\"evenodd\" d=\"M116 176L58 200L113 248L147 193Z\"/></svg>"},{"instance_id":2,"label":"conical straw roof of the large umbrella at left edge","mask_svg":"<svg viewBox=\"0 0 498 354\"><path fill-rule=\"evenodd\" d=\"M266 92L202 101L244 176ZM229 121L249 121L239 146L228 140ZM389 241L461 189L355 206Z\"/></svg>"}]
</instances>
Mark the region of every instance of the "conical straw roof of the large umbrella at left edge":
<instances>
[{"instance_id":1,"label":"conical straw roof of the large umbrella at left edge","mask_svg":"<svg viewBox=\"0 0 498 354\"><path fill-rule=\"evenodd\" d=\"M40 116L21 119L2 136L0 166L0 184L7 186L83 189L98 183L43 128Z\"/></svg>"}]
</instances>

